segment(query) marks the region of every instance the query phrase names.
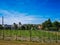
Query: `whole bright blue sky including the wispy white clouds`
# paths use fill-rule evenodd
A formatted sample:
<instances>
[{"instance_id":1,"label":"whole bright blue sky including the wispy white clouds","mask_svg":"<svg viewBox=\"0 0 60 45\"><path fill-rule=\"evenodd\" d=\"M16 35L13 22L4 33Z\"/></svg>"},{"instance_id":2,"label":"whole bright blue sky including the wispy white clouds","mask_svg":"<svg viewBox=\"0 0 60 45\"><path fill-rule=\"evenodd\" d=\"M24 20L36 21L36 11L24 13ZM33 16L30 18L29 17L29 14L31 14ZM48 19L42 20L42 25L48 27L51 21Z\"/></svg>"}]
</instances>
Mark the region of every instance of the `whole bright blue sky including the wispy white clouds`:
<instances>
[{"instance_id":1,"label":"whole bright blue sky including the wispy white clouds","mask_svg":"<svg viewBox=\"0 0 60 45\"><path fill-rule=\"evenodd\" d=\"M2 16L5 24L60 21L60 0L0 0L0 23Z\"/></svg>"}]
</instances>

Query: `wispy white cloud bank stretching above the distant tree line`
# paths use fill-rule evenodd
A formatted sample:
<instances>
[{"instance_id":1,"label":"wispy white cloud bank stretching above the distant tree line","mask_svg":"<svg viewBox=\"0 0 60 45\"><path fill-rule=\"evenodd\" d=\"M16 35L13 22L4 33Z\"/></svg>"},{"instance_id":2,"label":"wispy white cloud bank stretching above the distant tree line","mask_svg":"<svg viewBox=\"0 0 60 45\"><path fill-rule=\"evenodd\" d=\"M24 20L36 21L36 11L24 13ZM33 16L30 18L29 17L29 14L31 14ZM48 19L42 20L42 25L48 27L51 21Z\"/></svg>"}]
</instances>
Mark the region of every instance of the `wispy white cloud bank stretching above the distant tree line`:
<instances>
[{"instance_id":1,"label":"wispy white cloud bank stretching above the distant tree line","mask_svg":"<svg viewBox=\"0 0 60 45\"><path fill-rule=\"evenodd\" d=\"M40 18L36 18L36 16L34 15L28 15L27 13L20 13L17 11L0 10L0 14L4 16L5 24L13 24L14 22L15 23L21 22L22 24L42 23L43 21L46 20L46 18L43 18L42 16Z\"/></svg>"}]
</instances>

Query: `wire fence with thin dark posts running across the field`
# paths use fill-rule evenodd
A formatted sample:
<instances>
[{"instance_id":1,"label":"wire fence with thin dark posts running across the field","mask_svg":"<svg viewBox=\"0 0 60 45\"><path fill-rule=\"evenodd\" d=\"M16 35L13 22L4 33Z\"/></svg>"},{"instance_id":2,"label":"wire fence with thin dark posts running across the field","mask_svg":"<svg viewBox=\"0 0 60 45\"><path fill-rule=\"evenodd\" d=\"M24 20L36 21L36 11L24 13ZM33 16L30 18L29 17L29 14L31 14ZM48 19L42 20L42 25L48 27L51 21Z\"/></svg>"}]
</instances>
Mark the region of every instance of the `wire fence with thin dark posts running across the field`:
<instances>
[{"instance_id":1,"label":"wire fence with thin dark posts running across the field","mask_svg":"<svg viewBox=\"0 0 60 45\"><path fill-rule=\"evenodd\" d=\"M0 30L0 40L60 42L60 32L43 30Z\"/></svg>"}]
</instances>

